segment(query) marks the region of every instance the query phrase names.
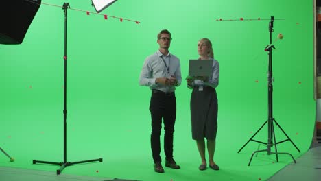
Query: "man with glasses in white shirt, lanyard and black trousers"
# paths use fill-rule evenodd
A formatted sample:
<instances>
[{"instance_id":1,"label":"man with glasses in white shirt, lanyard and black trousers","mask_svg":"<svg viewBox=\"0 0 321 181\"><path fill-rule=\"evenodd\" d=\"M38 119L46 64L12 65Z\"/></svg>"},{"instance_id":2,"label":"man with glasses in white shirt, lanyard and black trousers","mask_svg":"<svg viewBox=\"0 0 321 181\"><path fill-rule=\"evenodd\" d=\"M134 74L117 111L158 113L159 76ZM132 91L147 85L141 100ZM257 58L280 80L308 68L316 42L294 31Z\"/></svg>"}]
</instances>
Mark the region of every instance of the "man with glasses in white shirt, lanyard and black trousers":
<instances>
[{"instance_id":1,"label":"man with glasses in white shirt, lanyard and black trousers","mask_svg":"<svg viewBox=\"0 0 321 181\"><path fill-rule=\"evenodd\" d=\"M180 60L169 53L171 33L163 29L157 35L158 51L148 56L143 64L139 84L149 86L152 90L150 114L152 116L151 147L154 160L154 171L163 173L160 158L160 131L164 121L165 166L180 169L173 158L173 135L176 120L175 88L180 86Z\"/></svg>"}]
</instances>

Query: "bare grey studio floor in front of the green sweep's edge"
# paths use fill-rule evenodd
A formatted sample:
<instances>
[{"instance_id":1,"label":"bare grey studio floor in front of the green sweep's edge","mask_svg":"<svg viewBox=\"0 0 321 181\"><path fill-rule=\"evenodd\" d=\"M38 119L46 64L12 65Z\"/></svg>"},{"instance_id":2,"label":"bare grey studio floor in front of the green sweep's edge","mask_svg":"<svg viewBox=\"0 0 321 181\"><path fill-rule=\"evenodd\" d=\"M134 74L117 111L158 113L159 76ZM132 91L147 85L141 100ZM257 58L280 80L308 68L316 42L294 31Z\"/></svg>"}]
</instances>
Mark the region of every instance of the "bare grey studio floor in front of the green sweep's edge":
<instances>
[{"instance_id":1,"label":"bare grey studio floor in front of the green sweep's edge","mask_svg":"<svg viewBox=\"0 0 321 181\"><path fill-rule=\"evenodd\" d=\"M321 146L320 143L314 145L309 151L300 158L296 159L297 164L289 164L285 168L278 171L274 176L268 180L318 180L320 178L321 169ZM126 175L126 173L124 173ZM18 169L13 167L0 167L0 177L3 181L21 181L21 180L52 180L52 181L72 181L72 180L86 180L86 181L125 181L128 179L121 178L103 178L97 176L77 176L67 173L62 173L60 176L56 175L53 171L40 171L34 169ZM200 174L202 177L202 174ZM157 180L150 178L148 180ZM165 179L167 180L167 179ZM173 179L171 179L173 180ZM189 180L189 179L187 179ZM200 178L199 180L202 180ZM237 180L231 179L231 180ZM262 179L258 179L262 180Z\"/></svg>"}]
</instances>

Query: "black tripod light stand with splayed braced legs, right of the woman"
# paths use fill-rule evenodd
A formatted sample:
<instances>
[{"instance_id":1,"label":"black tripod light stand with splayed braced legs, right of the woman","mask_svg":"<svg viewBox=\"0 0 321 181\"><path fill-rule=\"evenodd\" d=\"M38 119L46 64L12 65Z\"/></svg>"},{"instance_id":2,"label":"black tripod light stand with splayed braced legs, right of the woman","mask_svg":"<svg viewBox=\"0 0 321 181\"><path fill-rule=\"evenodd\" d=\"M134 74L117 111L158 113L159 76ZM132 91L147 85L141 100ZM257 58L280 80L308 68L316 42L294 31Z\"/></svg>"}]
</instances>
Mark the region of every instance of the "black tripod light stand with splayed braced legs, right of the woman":
<instances>
[{"instance_id":1,"label":"black tripod light stand with splayed braced legs, right of the woman","mask_svg":"<svg viewBox=\"0 0 321 181\"><path fill-rule=\"evenodd\" d=\"M269 65L268 65L268 120L265 121L265 123L263 123L263 125L261 126L261 128L259 128L259 130L257 130L257 132L255 132L255 134L248 140L248 142L246 142L245 145L243 145L243 147L245 147L250 141L255 141L257 143L263 143L261 141L256 141L252 138L254 138L255 135L257 135L257 133L264 127L264 125L266 123L268 123L268 143L263 143L265 145L267 145L267 149L262 149L262 150L257 150L255 152L252 153L250 162L248 162L248 166L250 166L252 158L254 156L254 154L258 153L258 152L268 152L268 155L270 154L275 154L276 155L276 162L278 162L278 154L288 154L289 156L292 157L292 160L296 163L296 160L294 160L294 157L292 156L292 154L289 153L285 153L285 152L278 152L278 149L276 147L276 145L278 143L283 143L285 141L291 141L292 145L294 145L294 147L296 147L296 145L293 143L293 141L289 138L289 136L287 136L287 134L285 133L285 131L281 128L281 126L275 121L273 114L272 114L272 91L273 91L273 82L274 82L274 78L272 77L272 49L275 49L274 45L272 45L272 32L273 32L273 23L274 23L274 16L271 16L271 21L269 23L269 32L270 32L270 45L265 47L265 51L268 51L268 55L269 55ZM274 125L273 123L275 123L278 128L280 128L280 130L283 132L283 134L285 134L285 136L287 136L287 139L285 139L284 141L279 141L278 143L276 143L276 138L275 138L275 132L274 132ZM273 141L272 141L273 139ZM275 147L275 152L271 152L271 147L274 146ZM243 147L241 147L241 149L239 149L239 152L241 152L241 150L243 149ZM296 149L298 150L298 152L300 152L300 150L298 149L298 147L296 147ZM237 153L239 153L237 152Z\"/></svg>"}]
</instances>

